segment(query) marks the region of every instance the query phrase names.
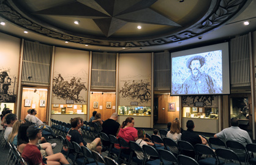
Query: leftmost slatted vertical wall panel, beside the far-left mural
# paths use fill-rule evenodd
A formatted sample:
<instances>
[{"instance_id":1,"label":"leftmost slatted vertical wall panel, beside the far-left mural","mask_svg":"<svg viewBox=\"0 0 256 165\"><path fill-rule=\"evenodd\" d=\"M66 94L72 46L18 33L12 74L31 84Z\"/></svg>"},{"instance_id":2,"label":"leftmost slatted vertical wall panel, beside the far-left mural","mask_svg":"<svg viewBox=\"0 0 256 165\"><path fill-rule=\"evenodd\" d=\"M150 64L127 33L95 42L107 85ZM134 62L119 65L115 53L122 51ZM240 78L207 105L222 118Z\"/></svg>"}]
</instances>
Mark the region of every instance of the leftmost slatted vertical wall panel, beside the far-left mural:
<instances>
[{"instance_id":1,"label":"leftmost slatted vertical wall panel, beside the far-left mural","mask_svg":"<svg viewBox=\"0 0 256 165\"><path fill-rule=\"evenodd\" d=\"M50 45L24 41L22 84L50 86L52 50Z\"/></svg>"}]
</instances>

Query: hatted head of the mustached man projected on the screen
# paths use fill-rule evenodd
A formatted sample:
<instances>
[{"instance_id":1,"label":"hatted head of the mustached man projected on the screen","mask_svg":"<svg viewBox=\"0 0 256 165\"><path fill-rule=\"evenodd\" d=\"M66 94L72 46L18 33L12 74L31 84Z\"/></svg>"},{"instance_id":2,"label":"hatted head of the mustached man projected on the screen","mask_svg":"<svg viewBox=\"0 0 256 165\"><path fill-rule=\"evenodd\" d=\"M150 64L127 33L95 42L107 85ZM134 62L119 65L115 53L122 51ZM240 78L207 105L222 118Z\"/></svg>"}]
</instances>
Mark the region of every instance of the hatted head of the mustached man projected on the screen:
<instances>
[{"instance_id":1,"label":"hatted head of the mustached man projected on the screen","mask_svg":"<svg viewBox=\"0 0 256 165\"><path fill-rule=\"evenodd\" d=\"M190 68L193 75L199 73L199 69L205 64L205 57L192 56L187 60L187 67Z\"/></svg>"}]
</instances>

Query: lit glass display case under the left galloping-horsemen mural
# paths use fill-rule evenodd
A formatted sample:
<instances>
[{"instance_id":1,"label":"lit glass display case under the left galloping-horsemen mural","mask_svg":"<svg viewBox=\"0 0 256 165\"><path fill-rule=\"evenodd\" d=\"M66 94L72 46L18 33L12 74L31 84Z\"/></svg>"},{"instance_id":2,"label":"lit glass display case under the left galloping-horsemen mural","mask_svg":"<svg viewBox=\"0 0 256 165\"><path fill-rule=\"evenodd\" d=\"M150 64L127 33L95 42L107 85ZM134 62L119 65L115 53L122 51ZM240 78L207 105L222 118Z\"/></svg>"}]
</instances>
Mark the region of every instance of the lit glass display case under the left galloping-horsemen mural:
<instances>
[{"instance_id":1,"label":"lit glass display case under the left galloping-horsemen mural","mask_svg":"<svg viewBox=\"0 0 256 165\"><path fill-rule=\"evenodd\" d=\"M87 105L51 105L51 114L87 114Z\"/></svg>"}]
</instances>

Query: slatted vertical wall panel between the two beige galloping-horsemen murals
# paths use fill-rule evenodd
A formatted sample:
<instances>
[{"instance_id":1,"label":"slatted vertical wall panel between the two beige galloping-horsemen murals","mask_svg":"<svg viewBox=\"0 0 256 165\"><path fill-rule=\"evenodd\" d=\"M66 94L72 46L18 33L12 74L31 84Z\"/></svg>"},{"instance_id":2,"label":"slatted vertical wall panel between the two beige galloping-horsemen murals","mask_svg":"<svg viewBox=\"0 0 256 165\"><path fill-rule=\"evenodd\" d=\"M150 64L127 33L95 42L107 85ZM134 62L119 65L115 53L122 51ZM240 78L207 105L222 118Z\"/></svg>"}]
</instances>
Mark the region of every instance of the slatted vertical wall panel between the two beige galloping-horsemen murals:
<instances>
[{"instance_id":1,"label":"slatted vertical wall panel between the two beige galloping-horsemen murals","mask_svg":"<svg viewBox=\"0 0 256 165\"><path fill-rule=\"evenodd\" d=\"M116 53L92 53L91 89L115 89Z\"/></svg>"}]
</instances>

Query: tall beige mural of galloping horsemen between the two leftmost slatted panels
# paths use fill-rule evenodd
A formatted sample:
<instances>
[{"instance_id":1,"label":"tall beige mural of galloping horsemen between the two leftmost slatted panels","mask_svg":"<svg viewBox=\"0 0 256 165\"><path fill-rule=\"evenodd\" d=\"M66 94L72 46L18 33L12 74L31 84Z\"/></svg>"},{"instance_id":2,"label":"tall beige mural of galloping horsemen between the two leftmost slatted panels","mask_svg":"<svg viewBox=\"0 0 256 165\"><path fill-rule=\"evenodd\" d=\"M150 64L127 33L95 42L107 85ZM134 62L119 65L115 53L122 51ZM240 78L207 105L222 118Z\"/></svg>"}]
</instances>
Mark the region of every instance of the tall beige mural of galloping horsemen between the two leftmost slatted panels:
<instances>
[{"instance_id":1,"label":"tall beige mural of galloping horsemen between the two leftmost slatted panels","mask_svg":"<svg viewBox=\"0 0 256 165\"><path fill-rule=\"evenodd\" d=\"M55 49L53 104L87 104L89 52L67 48Z\"/></svg>"}]
</instances>

